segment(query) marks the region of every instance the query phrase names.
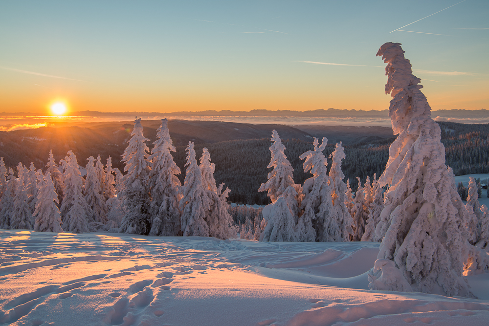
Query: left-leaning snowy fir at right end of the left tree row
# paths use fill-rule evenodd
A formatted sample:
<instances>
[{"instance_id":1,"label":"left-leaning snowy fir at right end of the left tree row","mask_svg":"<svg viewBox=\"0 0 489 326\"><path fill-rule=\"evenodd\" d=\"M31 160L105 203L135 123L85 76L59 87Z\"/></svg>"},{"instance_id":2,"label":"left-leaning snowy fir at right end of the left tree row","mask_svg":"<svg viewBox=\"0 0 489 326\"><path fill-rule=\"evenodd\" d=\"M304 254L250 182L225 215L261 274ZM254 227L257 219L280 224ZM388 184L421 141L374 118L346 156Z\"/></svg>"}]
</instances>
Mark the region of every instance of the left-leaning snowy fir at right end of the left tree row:
<instances>
[{"instance_id":1,"label":"left-leaning snowy fir at right end of the left tree row","mask_svg":"<svg viewBox=\"0 0 489 326\"><path fill-rule=\"evenodd\" d=\"M222 191L224 187L223 183L219 188L216 187L216 180L214 179L216 165L211 163L211 155L205 147L202 150L199 168L202 175L202 186L210 201L209 210L205 216L205 220L209 226L209 236L218 239L235 237L236 231L233 226L233 218L227 211L229 204L226 202L227 196L231 191L229 188Z\"/></svg>"}]
</instances>

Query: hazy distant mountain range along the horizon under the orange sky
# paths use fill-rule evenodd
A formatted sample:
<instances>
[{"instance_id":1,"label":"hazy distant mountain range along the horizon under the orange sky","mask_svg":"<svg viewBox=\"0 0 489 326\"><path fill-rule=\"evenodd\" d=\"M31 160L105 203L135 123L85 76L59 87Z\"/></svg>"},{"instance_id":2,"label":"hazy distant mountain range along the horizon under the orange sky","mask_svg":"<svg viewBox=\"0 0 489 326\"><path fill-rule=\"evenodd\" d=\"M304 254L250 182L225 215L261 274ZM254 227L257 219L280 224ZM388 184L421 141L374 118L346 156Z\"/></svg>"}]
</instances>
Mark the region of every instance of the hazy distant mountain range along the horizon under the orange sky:
<instances>
[{"instance_id":1,"label":"hazy distant mountain range along the horizon under the orange sky","mask_svg":"<svg viewBox=\"0 0 489 326\"><path fill-rule=\"evenodd\" d=\"M1 112L0 116L34 116L39 114L34 113L7 113ZM162 112L99 112L99 111L76 111L71 112L73 116L90 116L90 117L111 117L111 116L168 116L168 117L195 117L195 116L266 116L266 117L318 117L318 118L385 118L389 116L388 110L340 110L340 109L317 109L309 111L292 111L292 110L251 110L251 111L231 111L231 110L206 110L199 112L178 111L170 113ZM489 118L489 110L466 110L466 109L453 109L453 110L437 110L432 111L432 117L444 117L444 118Z\"/></svg>"}]
</instances>

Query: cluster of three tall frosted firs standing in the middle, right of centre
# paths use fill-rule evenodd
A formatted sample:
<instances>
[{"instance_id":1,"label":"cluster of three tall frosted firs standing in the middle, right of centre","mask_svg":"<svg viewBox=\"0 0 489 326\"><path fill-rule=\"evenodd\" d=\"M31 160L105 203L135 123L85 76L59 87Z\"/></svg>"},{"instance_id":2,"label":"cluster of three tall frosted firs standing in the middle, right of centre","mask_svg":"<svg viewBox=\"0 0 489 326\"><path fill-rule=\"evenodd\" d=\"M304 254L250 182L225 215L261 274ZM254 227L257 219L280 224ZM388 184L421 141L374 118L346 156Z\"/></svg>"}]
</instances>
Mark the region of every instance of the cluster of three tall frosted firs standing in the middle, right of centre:
<instances>
[{"instance_id":1,"label":"cluster of three tall frosted firs standing in the middle, right of centre","mask_svg":"<svg viewBox=\"0 0 489 326\"><path fill-rule=\"evenodd\" d=\"M304 186L295 184L292 167L285 155L278 133L273 130L270 146L271 160L267 183L259 191L268 191L272 203L263 210L263 241L350 241L353 237L350 213L349 187L344 183L341 161L345 158L341 143L331 158L333 164L328 174L327 158L323 151L328 140L319 144L314 139L314 150L303 153L304 172L312 177ZM351 194L351 193L350 193Z\"/></svg>"}]
</instances>

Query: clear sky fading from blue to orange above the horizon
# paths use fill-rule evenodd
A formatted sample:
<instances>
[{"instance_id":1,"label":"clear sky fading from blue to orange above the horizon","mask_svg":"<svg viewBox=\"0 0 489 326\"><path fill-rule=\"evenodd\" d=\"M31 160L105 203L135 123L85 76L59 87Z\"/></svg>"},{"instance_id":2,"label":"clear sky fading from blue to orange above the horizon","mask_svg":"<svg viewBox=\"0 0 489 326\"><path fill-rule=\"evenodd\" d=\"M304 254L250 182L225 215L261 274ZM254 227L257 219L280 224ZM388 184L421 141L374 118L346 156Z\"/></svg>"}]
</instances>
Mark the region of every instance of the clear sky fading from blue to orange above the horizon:
<instances>
[{"instance_id":1,"label":"clear sky fading from blue to orange above the horizon","mask_svg":"<svg viewBox=\"0 0 489 326\"><path fill-rule=\"evenodd\" d=\"M2 0L0 112L387 109L385 42L433 110L489 109L489 1L457 2Z\"/></svg>"}]
</instances>

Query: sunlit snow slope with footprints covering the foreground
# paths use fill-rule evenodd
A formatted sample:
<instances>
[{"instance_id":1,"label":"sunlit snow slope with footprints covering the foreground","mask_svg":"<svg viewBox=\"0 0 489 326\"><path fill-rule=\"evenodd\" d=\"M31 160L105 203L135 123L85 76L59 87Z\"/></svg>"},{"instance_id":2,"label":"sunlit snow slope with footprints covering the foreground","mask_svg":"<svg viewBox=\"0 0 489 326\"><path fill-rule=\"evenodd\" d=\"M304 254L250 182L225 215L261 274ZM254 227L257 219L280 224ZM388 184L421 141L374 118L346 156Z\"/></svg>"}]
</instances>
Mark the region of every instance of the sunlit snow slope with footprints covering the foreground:
<instances>
[{"instance_id":1,"label":"sunlit snow slope with footprints covering the foreground","mask_svg":"<svg viewBox=\"0 0 489 326\"><path fill-rule=\"evenodd\" d=\"M368 290L378 243L0 231L0 325L488 325L480 298Z\"/></svg>"}]
</instances>

